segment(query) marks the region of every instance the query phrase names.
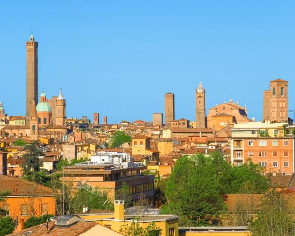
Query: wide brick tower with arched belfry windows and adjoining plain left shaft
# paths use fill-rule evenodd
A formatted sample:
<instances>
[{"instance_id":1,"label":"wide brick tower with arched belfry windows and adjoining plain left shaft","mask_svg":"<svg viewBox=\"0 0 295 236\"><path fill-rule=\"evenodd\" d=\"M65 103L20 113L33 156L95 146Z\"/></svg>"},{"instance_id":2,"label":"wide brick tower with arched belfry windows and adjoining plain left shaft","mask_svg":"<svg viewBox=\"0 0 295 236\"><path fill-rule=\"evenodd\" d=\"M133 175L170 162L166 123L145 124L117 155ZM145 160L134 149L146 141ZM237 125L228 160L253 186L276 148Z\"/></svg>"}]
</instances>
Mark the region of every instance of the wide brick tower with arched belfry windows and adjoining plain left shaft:
<instances>
[{"instance_id":1,"label":"wide brick tower with arched belfry windows and adjoining plain left shaft","mask_svg":"<svg viewBox=\"0 0 295 236\"><path fill-rule=\"evenodd\" d=\"M264 91L263 120L288 122L288 81L276 79Z\"/></svg>"}]
</instances>

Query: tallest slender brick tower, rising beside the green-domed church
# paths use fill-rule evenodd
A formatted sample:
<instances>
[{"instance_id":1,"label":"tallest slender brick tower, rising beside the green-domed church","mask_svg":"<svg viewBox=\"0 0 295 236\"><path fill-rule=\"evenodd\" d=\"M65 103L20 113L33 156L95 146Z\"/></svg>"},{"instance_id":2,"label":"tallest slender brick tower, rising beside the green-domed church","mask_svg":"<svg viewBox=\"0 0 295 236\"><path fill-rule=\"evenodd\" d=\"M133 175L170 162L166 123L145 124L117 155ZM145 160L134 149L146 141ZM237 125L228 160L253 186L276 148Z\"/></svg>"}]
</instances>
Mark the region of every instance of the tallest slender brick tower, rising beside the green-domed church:
<instances>
[{"instance_id":1,"label":"tallest slender brick tower, rising beside the green-domed church","mask_svg":"<svg viewBox=\"0 0 295 236\"><path fill-rule=\"evenodd\" d=\"M33 34L30 35L27 46L27 102L26 124L32 110L32 101L38 103L38 42L35 42Z\"/></svg>"}]
</instances>

